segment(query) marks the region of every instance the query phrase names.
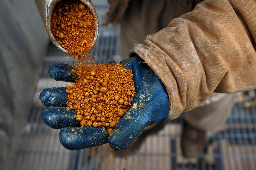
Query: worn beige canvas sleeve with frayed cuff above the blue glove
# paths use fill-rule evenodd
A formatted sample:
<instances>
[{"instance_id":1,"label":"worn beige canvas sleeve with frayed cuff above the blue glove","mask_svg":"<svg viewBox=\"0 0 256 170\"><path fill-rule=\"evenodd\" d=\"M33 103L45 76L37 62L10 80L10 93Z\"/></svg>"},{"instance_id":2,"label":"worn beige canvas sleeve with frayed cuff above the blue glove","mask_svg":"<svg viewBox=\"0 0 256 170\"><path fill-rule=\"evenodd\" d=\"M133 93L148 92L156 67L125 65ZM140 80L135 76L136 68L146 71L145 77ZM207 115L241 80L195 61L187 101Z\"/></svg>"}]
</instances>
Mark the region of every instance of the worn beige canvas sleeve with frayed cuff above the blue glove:
<instances>
[{"instance_id":1,"label":"worn beige canvas sleeve with frayed cuff above the blue glove","mask_svg":"<svg viewBox=\"0 0 256 170\"><path fill-rule=\"evenodd\" d=\"M146 37L130 54L144 59L166 86L173 119L214 91L254 89L255 41L255 0L208 0Z\"/></svg>"}]
</instances>

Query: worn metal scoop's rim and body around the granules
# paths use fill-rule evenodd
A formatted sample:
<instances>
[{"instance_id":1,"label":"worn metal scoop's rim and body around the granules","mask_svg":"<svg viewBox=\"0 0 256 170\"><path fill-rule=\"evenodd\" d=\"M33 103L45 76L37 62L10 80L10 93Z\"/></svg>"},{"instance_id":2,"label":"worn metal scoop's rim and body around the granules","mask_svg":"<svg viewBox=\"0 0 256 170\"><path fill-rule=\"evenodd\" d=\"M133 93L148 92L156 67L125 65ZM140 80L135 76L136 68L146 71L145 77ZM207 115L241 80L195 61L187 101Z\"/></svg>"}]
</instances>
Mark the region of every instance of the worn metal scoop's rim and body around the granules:
<instances>
[{"instance_id":1,"label":"worn metal scoop's rim and body around the granules","mask_svg":"<svg viewBox=\"0 0 256 170\"><path fill-rule=\"evenodd\" d=\"M61 0L34 0L36 3L36 7L38 9L38 12L42 18L42 21L44 23L44 26L46 28L46 31L51 39L51 42L57 46L61 51L65 52L65 53L69 53L67 50L65 50L63 47L61 47L61 45L59 44L59 42L56 40L56 38L54 37L53 33L51 32L51 13L53 11L54 6L56 5L57 2L61 1ZM99 22L98 22L98 16L97 13L94 9L94 6L92 5L92 1L91 0L80 0L82 3L84 3L84 5L86 5L92 12L92 15L95 19L95 37L92 43L92 46L90 47L90 49L95 45L97 38L98 38L98 33L99 33Z\"/></svg>"}]
</instances>

